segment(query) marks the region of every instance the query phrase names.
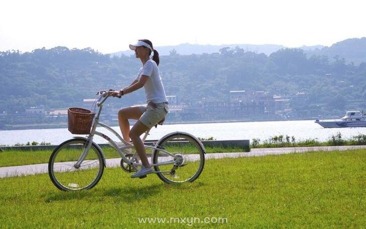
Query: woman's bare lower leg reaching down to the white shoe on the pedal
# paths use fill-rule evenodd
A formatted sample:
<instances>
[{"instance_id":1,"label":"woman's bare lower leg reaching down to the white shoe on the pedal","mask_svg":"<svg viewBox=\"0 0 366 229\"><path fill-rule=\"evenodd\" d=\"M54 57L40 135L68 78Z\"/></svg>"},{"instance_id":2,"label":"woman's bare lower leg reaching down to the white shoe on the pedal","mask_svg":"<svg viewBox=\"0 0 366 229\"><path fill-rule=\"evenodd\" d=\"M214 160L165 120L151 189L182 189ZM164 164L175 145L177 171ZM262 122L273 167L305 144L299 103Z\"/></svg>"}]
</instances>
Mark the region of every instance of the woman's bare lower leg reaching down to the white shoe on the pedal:
<instances>
[{"instance_id":1,"label":"woman's bare lower leg reaching down to the white shoe on the pedal","mask_svg":"<svg viewBox=\"0 0 366 229\"><path fill-rule=\"evenodd\" d=\"M149 127L142 124L142 122L137 121L133 127L131 128L131 131L129 132L129 136L131 137L131 140L133 142L133 145L135 146L136 152L138 156L140 157L141 163L143 167L150 168L148 157L146 157L146 151L145 147L143 146L143 142L140 138L141 134L146 132Z\"/></svg>"}]
</instances>

